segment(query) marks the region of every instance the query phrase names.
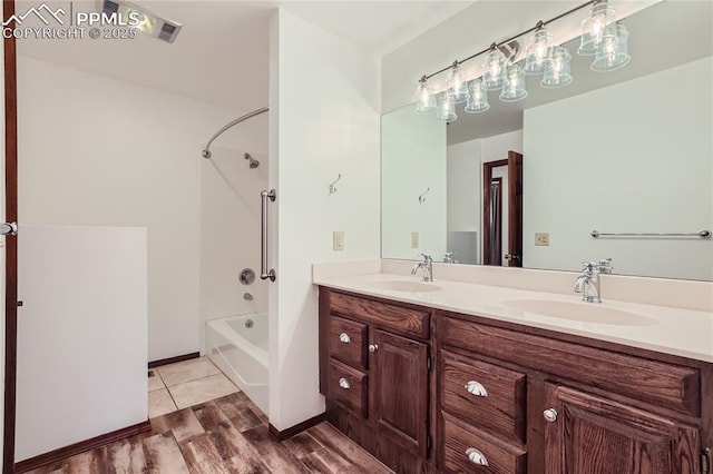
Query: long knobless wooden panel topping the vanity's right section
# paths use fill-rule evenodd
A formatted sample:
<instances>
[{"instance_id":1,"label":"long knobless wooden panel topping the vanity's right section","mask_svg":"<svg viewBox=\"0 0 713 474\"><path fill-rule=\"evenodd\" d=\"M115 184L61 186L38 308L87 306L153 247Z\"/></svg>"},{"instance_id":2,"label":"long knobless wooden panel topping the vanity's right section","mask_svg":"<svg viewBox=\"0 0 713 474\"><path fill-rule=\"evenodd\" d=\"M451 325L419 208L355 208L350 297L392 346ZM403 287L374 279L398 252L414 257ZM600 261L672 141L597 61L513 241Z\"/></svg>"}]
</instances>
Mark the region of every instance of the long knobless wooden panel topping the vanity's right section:
<instances>
[{"instance_id":1,"label":"long knobless wooden panel topping the vanity's right section","mask_svg":"<svg viewBox=\"0 0 713 474\"><path fill-rule=\"evenodd\" d=\"M472 323L442 319L443 345L508 361L604 391L700 414L699 369Z\"/></svg>"}]
</instances>

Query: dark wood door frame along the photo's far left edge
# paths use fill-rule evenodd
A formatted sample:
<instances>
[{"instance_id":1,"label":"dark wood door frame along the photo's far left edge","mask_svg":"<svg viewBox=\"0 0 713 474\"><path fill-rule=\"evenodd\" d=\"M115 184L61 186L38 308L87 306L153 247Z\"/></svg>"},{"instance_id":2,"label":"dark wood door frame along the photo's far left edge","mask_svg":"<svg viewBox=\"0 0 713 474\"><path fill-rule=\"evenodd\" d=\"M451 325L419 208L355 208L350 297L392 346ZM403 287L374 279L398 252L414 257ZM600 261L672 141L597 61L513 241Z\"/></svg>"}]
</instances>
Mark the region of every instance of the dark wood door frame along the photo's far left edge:
<instances>
[{"instance_id":1,"label":"dark wood door frame along the photo's far left edge","mask_svg":"<svg viewBox=\"0 0 713 474\"><path fill-rule=\"evenodd\" d=\"M14 0L2 0L3 20L14 14ZM6 221L18 220L18 81L14 37L2 41L4 52L4 192ZM18 239L6 237L4 398L2 473L14 472L14 424L18 332Z\"/></svg>"}]
</instances>

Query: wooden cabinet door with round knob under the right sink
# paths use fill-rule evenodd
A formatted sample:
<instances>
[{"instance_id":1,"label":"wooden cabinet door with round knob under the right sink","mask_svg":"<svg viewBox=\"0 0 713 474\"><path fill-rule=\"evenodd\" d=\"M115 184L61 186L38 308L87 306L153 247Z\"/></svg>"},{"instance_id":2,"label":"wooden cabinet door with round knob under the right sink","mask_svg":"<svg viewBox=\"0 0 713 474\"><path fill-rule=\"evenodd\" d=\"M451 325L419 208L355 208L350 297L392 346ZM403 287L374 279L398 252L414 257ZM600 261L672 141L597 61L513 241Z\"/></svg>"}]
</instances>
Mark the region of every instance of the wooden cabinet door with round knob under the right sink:
<instances>
[{"instance_id":1,"label":"wooden cabinet door with round knob under the right sink","mask_svg":"<svg viewBox=\"0 0 713 474\"><path fill-rule=\"evenodd\" d=\"M570 388L547 385L548 474L694 474L697 429ZM555 416L549 412L549 419Z\"/></svg>"}]
</instances>

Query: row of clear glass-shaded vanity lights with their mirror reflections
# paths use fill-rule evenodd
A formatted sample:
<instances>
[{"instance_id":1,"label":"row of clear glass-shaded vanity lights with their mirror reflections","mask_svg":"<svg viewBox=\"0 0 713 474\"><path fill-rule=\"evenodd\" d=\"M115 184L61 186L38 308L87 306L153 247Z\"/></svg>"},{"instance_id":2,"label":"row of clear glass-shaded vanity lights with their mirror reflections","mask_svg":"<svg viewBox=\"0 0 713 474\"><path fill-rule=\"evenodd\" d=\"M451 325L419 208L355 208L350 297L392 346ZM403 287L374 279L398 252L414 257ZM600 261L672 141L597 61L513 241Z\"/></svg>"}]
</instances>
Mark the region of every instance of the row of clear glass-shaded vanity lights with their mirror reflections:
<instances>
[{"instance_id":1,"label":"row of clear glass-shaded vanity lights with their mirror reflections","mask_svg":"<svg viewBox=\"0 0 713 474\"><path fill-rule=\"evenodd\" d=\"M462 60L456 60L419 80L416 111L430 113L451 122L458 118L456 103L466 102L465 111L479 113L488 110L488 91L500 90L500 100L511 102L527 97L526 75L543 75L544 88L564 87L573 82L572 53L553 40L548 24L589 7L582 21L578 55L593 56L592 70L613 71L631 61L628 31L616 19L615 9L607 0L589 0L547 21L538 21L534 28L521 31L504 41L494 42L487 49ZM534 33L527 41L525 53L519 55L518 39ZM468 78L462 65L485 55L481 76ZM449 72L446 90L436 91L428 81L442 72Z\"/></svg>"}]
</instances>

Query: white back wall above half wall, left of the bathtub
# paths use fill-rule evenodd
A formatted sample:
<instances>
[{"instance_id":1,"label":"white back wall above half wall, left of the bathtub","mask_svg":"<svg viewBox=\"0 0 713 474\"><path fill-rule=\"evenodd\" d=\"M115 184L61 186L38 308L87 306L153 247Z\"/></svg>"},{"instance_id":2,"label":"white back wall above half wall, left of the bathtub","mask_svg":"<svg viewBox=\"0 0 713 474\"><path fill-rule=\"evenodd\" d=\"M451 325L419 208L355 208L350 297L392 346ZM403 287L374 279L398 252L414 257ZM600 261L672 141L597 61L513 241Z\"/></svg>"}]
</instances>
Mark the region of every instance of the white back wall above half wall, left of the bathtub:
<instances>
[{"instance_id":1,"label":"white back wall above half wall, left of the bathtub","mask_svg":"<svg viewBox=\"0 0 713 474\"><path fill-rule=\"evenodd\" d=\"M18 78L22 221L147 227L149 359L198 350L201 150L242 113L26 57ZM264 124L216 145L264 151Z\"/></svg>"}]
</instances>

